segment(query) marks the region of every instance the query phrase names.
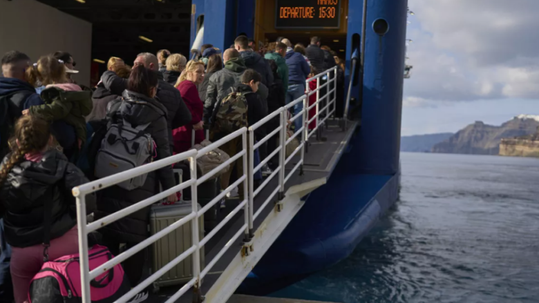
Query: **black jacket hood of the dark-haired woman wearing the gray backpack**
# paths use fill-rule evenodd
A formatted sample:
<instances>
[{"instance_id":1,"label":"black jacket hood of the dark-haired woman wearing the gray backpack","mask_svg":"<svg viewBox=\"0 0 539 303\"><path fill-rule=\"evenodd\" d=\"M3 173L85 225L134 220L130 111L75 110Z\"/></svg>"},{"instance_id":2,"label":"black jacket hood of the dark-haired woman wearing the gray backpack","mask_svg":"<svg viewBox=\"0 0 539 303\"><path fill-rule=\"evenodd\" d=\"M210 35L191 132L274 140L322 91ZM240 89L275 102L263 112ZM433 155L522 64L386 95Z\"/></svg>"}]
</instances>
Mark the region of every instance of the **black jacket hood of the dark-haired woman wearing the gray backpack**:
<instances>
[{"instance_id":1,"label":"black jacket hood of the dark-haired woman wearing the gray backpack","mask_svg":"<svg viewBox=\"0 0 539 303\"><path fill-rule=\"evenodd\" d=\"M134 126L167 116L167 109L153 98L131 90L124 90L122 97L124 101L120 106L120 115Z\"/></svg>"}]
</instances>

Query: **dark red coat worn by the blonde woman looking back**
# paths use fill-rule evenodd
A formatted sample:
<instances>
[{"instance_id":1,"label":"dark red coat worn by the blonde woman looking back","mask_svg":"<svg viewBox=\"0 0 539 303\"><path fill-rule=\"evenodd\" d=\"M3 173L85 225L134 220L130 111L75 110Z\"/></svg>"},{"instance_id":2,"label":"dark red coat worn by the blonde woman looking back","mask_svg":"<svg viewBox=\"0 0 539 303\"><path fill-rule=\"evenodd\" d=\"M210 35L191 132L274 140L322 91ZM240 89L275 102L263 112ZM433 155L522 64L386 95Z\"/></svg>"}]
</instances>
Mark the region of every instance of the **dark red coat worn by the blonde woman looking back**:
<instances>
[{"instance_id":1,"label":"dark red coat worn by the blonde woman looking back","mask_svg":"<svg viewBox=\"0 0 539 303\"><path fill-rule=\"evenodd\" d=\"M191 122L180 128L172 130L172 137L174 140L174 153L179 154L191 149L191 134L193 132L193 125L202 121L202 115L204 113L204 104L198 95L198 89L196 85L185 80L178 86L182 99L191 111ZM195 144L199 144L204 141L204 130L197 130L195 133Z\"/></svg>"}]
</instances>

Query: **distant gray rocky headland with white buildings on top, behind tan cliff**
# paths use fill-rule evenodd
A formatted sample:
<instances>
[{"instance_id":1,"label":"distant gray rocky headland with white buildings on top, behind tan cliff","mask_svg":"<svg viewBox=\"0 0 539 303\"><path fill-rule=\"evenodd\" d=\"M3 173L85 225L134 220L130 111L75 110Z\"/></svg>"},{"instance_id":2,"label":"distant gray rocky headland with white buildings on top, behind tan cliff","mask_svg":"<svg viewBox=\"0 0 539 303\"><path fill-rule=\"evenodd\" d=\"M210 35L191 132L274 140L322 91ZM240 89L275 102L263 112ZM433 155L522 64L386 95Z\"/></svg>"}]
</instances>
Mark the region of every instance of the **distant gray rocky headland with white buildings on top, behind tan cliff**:
<instances>
[{"instance_id":1,"label":"distant gray rocky headland with white buildings on top, behind tan cliff","mask_svg":"<svg viewBox=\"0 0 539 303\"><path fill-rule=\"evenodd\" d=\"M432 151L433 153L498 155L501 139L536 133L539 121L529 117L521 115L501 126L487 125L482 121L477 121L459 130L449 139L435 144Z\"/></svg>"}]
</instances>

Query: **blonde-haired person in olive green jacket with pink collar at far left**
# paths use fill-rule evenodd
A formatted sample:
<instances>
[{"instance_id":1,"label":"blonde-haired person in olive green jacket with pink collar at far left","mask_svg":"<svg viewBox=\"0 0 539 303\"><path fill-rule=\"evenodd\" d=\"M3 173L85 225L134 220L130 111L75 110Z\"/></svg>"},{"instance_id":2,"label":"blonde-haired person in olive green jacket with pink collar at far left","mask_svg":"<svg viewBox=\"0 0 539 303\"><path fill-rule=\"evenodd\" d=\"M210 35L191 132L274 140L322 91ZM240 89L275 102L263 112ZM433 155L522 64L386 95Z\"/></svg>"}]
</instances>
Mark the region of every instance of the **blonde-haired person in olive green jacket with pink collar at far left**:
<instances>
[{"instance_id":1,"label":"blonde-haired person in olive green jacket with pink collar at far left","mask_svg":"<svg viewBox=\"0 0 539 303\"><path fill-rule=\"evenodd\" d=\"M39 58L37 63L26 70L26 79L33 86L39 82L46 89L41 92L44 104L30 106L23 111L23 115L39 116L48 122L63 121L73 127L76 139L70 138L68 129L55 132L58 127L53 127L53 135L68 158L77 155L77 150L86 142L84 117L90 115L93 108L91 92L83 91L77 84L68 83L64 62L53 56Z\"/></svg>"}]
</instances>

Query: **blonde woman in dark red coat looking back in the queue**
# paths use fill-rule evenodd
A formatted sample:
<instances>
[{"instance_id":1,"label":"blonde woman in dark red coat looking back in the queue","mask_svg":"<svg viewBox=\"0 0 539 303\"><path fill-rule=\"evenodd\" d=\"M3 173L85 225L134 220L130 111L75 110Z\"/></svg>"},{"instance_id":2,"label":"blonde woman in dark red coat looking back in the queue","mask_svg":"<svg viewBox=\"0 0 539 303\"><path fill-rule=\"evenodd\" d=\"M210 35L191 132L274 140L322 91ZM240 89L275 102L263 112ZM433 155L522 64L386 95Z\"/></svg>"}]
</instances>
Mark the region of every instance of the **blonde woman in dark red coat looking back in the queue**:
<instances>
[{"instance_id":1,"label":"blonde woman in dark red coat looking back in the queue","mask_svg":"<svg viewBox=\"0 0 539 303\"><path fill-rule=\"evenodd\" d=\"M200 61L189 61L185 70L182 72L176 88L180 90L183 101L189 111L191 111L191 123L172 131L174 138L174 153L183 153L191 148L191 137L193 129L195 132L195 143L198 144L204 140L204 104L198 95L197 85L204 81L204 63Z\"/></svg>"}]
</instances>

